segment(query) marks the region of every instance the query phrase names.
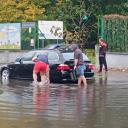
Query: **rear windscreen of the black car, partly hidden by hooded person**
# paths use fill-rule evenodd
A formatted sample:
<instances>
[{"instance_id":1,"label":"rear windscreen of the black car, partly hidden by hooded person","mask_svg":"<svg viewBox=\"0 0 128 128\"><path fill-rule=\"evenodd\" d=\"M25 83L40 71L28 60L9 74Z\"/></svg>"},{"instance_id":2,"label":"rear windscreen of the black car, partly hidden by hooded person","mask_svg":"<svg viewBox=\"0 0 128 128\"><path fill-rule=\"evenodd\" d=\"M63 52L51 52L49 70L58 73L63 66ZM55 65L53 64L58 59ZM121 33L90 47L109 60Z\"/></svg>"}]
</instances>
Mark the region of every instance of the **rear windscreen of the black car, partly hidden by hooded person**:
<instances>
[{"instance_id":1,"label":"rear windscreen of the black car, partly hidden by hooded person","mask_svg":"<svg viewBox=\"0 0 128 128\"><path fill-rule=\"evenodd\" d=\"M65 53L62 53L65 60L72 60L74 59L74 53L73 52L65 52ZM88 61L88 57L83 53L83 59Z\"/></svg>"}]
</instances>

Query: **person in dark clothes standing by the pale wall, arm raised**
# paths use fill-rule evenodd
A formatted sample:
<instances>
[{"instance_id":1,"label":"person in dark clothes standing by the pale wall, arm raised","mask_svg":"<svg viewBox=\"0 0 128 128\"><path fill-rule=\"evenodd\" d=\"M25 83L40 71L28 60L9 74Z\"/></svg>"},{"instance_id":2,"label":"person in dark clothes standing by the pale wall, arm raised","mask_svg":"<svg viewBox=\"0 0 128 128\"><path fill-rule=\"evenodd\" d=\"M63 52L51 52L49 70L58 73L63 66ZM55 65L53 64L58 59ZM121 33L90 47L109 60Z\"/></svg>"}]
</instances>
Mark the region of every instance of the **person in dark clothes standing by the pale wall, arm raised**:
<instances>
[{"instance_id":1,"label":"person in dark clothes standing by the pale wall, arm raised","mask_svg":"<svg viewBox=\"0 0 128 128\"><path fill-rule=\"evenodd\" d=\"M108 71L107 62L106 62L106 50L107 43L103 39L99 39L99 73L102 72L103 66L105 67L105 72Z\"/></svg>"}]
</instances>

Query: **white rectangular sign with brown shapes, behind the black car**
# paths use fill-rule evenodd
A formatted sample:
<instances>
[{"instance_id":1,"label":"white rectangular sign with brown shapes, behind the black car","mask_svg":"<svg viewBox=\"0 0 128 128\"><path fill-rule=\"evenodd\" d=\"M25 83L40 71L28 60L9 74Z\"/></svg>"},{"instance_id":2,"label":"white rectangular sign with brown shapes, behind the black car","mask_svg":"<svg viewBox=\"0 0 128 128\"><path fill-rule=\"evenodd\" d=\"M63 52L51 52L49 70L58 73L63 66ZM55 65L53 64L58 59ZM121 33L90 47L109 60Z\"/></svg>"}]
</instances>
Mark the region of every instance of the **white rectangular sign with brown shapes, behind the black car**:
<instances>
[{"instance_id":1,"label":"white rectangular sign with brown shapes, behind the black car","mask_svg":"<svg viewBox=\"0 0 128 128\"><path fill-rule=\"evenodd\" d=\"M62 21L38 21L39 39L63 39Z\"/></svg>"}]
</instances>

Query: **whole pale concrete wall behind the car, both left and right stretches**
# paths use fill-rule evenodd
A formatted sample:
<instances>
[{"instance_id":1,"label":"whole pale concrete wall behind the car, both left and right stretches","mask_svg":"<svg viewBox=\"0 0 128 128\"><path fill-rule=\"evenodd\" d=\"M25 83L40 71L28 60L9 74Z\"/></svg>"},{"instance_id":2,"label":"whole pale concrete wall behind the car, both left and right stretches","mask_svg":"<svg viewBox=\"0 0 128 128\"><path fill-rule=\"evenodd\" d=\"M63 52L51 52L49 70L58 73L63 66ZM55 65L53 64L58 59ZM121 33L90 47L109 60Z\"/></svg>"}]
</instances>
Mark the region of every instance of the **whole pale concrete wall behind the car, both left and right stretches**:
<instances>
[{"instance_id":1,"label":"whole pale concrete wall behind the car, both left and right stretches","mask_svg":"<svg viewBox=\"0 0 128 128\"><path fill-rule=\"evenodd\" d=\"M0 64L7 64L14 62L16 58L21 57L28 51L0 51ZM98 59L98 46L95 47L96 67L99 67ZM108 68L127 68L128 67L128 54L126 53L110 53L106 55Z\"/></svg>"}]
</instances>

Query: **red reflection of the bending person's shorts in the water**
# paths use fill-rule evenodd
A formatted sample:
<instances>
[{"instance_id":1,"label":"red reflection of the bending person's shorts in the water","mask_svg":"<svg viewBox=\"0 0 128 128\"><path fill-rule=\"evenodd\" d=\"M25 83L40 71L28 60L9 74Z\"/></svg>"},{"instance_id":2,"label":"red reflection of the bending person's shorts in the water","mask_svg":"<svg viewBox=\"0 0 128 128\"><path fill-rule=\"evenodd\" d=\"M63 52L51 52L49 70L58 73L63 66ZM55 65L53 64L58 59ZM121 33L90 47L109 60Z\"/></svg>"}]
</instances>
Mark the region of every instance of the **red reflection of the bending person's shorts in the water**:
<instances>
[{"instance_id":1,"label":"red reflection of the bending person's shorts in the water","mask_svg":"<svg viewBox=\"0 0 128 128\"><path fill-rule=\"evenodd\" d=\"M48 107L49 86L33 87L33 104L36 112L44 112Z\"/></svg>"}]
</instances>

